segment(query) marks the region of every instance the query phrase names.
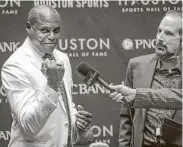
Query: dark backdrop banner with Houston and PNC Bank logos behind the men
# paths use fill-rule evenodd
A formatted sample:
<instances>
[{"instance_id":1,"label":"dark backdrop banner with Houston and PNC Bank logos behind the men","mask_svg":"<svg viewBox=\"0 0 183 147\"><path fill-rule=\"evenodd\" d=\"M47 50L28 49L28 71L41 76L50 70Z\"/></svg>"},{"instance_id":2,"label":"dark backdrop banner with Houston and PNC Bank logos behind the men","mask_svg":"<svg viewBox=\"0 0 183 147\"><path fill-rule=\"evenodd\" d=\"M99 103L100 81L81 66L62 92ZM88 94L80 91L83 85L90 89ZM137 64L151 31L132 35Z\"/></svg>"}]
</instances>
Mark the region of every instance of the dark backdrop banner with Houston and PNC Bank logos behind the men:
<instances>
[{"instance_id":1,"label":"dark backdrop banner with Houston and PNC Bank logos behind the men","mask_svg":"<svg viewBox=\"0 0 183 147\"><path fill-rule=\"evenodd\" d=\"M154 52L157 28L168 10L182 10L179 0L6 0L0 1L0 67L24 42L29 10L50 5L60 13L58 49L68 54L73 71L73 100L93 114L95 142L118 147L120 103L108 91L83 83L81 62L98 70L109 84L124 82L130 58ZM11 111L0 82L0 147L10 140ZM87 145L86 147L92 147Z\"/></svg>"}]
</instances>

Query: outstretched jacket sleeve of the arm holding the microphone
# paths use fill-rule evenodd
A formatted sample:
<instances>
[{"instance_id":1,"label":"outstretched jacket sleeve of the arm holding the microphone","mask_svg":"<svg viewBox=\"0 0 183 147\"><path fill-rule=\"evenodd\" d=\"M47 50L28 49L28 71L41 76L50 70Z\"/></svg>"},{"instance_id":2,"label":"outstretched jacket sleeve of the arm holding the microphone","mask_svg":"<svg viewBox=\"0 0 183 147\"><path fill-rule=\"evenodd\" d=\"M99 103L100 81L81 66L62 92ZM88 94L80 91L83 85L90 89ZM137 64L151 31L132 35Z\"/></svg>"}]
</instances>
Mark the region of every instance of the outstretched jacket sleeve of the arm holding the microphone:
<instances>
[{"instance_id":1,"label":"outstretched jacket sleeve of the arm holding the microphone","mask_svg":"<svg viewBox=\"0 0 183 147\"><path fill-rule=\"evenodd\" d=\"M136 88L136 91L134 108L182 110L182 89Z\"/></svg>"}]
</instances>

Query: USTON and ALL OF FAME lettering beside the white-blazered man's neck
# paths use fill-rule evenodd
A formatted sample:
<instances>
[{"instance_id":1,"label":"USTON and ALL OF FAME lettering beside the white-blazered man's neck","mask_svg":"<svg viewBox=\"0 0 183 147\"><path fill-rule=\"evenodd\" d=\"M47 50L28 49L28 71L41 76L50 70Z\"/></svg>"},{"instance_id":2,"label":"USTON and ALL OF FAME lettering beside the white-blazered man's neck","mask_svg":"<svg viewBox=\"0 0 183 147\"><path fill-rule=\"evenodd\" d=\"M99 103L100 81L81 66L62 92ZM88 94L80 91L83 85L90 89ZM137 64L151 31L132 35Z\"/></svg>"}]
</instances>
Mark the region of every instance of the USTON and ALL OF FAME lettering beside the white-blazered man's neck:
<instances>
[{"instance_id":1,"label":"USTON and ALL OF FAME lettering beside the white-blazered man's neck","mask_svg":"<svg viewBox=\"0 0 183 147\"><path fill-rule=\"evenodd\" d=\"M110 48L109 38L60 39L58 47L67 51L69 57L107 57Z\"/></svg>"}]
</instances>

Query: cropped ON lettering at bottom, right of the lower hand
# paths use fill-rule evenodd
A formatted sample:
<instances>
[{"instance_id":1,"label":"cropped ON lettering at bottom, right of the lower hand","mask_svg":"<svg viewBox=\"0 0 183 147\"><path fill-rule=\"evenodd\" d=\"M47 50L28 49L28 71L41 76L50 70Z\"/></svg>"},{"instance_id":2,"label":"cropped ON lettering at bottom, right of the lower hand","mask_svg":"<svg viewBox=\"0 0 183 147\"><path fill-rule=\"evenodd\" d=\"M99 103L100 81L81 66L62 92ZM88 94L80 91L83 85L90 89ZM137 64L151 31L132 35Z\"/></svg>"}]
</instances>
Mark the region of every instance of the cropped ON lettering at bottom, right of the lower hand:
<instances>
[{"instance_id":1,"label":"cropped ON lettering at bottom, right of the lower hand","mask_svg":"<svg viewBox=\"0 0 183 147\"><path fill-rule=\"evenodd\" d=\"M95 138L94 142L103 142L107 144L111 143L111 138L113 138L113 134L114 134L113 125L109 125L109 126L103 125L101 127L98 125L93 125L91 129L93 131L93 136ZM95 146L91 146L91 147L95 147ZM104 147L107 147L107 146L104 146Z\"/></svg>"}]
</instances>

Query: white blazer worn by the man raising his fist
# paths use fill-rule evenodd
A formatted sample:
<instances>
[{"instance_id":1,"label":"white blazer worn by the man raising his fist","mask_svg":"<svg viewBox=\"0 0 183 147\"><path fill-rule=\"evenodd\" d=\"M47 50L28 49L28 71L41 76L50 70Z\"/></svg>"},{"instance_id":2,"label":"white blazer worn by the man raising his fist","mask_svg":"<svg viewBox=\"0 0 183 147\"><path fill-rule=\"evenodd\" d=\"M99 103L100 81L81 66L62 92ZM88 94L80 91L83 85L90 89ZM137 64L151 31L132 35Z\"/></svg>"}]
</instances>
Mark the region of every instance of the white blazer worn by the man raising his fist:
<instances>
[{"instance_id":1,"label":"white blazer worn by the man raising his fist","mask_svg":"<svg viewBox=\"0 0 183 147\"><path fill-rule=\"evenodd\" d=\"M53 55L56 60L64 63L63 80L74 128L72 131L78 134L74 125L76 109L72 102L73 81L70 62L65 53L56 49ZM61 96L47 85L47 79L41 72L42 62L41 56L27 38L2 67L2 83L13 118L9 147L65 147L67 145L66 109ZM55 98L56 102L52 101L53 97L58 97Z\"/></svg>"}]
</instances>

